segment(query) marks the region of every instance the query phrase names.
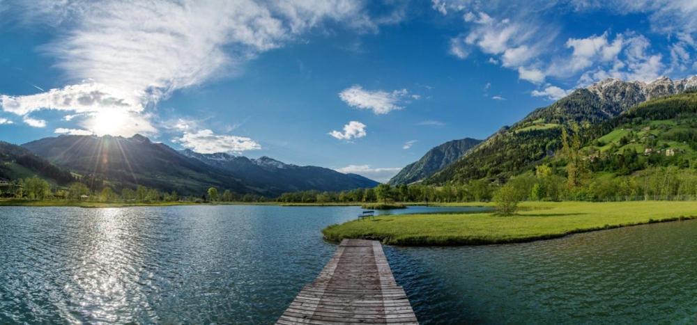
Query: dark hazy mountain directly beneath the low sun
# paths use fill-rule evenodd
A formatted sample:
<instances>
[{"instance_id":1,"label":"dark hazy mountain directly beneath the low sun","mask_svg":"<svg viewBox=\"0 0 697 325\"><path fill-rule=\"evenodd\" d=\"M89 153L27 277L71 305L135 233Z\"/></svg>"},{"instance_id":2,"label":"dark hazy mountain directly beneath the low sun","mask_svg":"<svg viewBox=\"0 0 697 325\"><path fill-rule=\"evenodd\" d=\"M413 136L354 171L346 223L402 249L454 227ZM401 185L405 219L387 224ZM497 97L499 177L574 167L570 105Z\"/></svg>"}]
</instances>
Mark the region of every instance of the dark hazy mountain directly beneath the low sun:
<instances>
[{"instance_id":1,"label":"dark hazy mountain directly beneath the low sun","mask_svg":"<svg viewBox=\"0 0 697 325\"><path fill-rule=\"evenodd\" d=\"M106 180L116 187L144 185L190 195L200 195L211 186L238 193L257 192L224 171L139 134L131 138L62 135L22 147L57 166Z\"/></svg>"}]
</instances>

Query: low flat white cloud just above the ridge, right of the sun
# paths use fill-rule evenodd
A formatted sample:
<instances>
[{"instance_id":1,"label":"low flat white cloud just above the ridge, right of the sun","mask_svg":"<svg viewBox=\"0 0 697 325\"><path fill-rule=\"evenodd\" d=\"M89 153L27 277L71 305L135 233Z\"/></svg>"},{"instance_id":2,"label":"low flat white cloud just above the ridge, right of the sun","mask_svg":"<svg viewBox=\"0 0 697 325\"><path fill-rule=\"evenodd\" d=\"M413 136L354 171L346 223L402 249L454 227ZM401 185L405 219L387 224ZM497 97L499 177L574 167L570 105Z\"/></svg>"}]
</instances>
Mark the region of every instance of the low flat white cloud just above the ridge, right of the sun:
<instances>
[{"instance_id":1,"label":"low flat white cloud just above the ridge, right of the sun","mask_svg":"<svg viewBox=\"0 0 697 325\"><path fill-rule=\"evenodd\" d=\"M251 138L214 134L210 129L202 129L197 132L184 132L181 138L176 138L173 141L181 143L184 148L202 154L212 154L215 152L240 153L261 149L261 145Z\"/></svg>"}]
</instances>

